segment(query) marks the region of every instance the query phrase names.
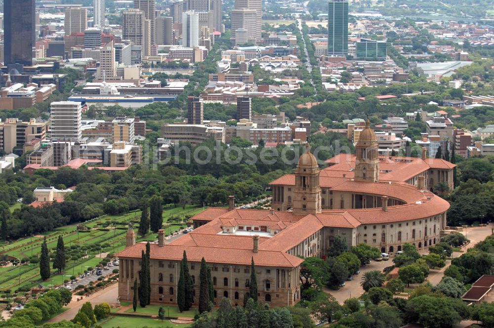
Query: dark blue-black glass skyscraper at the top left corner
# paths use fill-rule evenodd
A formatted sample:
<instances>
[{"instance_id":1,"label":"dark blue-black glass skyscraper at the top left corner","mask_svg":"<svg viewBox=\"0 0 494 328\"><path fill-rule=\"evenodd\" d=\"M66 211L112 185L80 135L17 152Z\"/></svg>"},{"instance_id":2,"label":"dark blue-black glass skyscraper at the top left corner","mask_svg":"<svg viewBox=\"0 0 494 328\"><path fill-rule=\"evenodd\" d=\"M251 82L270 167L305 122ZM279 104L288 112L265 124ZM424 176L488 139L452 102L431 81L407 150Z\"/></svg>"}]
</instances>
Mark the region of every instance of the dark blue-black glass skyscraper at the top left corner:
<instances>
[{"instance_id":1,"label":"dark blue-black glass skyscraper at the top left corner","mask_svg":"<svg viewBox=\"0 0 494 328\"><path fill-rule=\"evenodd\" d=\"M3 1L4 64L33 64L36 42L35 0Z\"/></svg>"}]
</instances>

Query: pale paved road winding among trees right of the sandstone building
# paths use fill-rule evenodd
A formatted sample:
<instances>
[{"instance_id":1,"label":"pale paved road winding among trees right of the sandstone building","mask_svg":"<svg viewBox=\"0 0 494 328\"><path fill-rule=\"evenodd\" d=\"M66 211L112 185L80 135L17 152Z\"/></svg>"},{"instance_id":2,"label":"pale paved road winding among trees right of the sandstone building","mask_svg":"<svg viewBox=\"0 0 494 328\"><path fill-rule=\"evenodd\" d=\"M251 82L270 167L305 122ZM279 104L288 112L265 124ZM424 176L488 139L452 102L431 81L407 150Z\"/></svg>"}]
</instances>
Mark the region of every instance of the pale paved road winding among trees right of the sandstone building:
<instances>
[{"instance_id":1,"label":"pale paved road winding among trees right of the sandstone building","mask_svg":"<svg viewBox=\"0 0 494 328\"><path fill-rule=\"evenodd\" d=\"M475 228L468 228L466 231L462 232L464 235L466 235L466 238L471 241L470 244L468 244L463 248L463 250L466 251L466 249L473 247L478 242L486 239L487 236L490 236L492 234L491 228L492 228L491 226L475 227ZM427 250L424 250L423 252L427 252ZM463 253L454 252L453 257L461 256L461 254ZM381 262L372 261L371 264L368 264L365 267L360 268L360 274L354 275L353 276L354 279L352 281L345 282L345 287L340 288L339 290L332 290L329 288L325 288L324 290L329 294L333 295L334 298L340 304L343 304L345 299L350 297L360 297L364 293L364 289L362 289L362 287L360 286L360 281L362 279L362 275L364 272L371 270L382 271L385 267L391 265L393 265L393 262L391 260L381 261ZM441 268L440 270L431 270L429 273L429 277L427 277L427 281L434 286L439 284L439 282L441 282L441 279L443 279L444 270L446 270L450 265L451 265L451 260L447 260L446 266L444 268Z\"/></svg>"}]
</instances>

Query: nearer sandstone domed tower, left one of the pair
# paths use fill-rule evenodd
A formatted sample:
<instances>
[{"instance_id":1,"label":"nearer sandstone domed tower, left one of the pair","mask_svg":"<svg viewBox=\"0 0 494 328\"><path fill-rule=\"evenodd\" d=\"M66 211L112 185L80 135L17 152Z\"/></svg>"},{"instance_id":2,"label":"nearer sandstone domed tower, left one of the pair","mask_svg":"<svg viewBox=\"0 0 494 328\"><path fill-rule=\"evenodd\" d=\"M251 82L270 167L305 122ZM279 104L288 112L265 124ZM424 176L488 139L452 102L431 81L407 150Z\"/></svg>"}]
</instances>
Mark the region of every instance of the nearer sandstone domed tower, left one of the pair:
<instances>
[{"instance_id":1,"label":"nearer sandstone domed tower, left one of the pair","mask_svg":"<svg viewBox=\"0 0 494 328\"><path fill-rule=\"evenodd\" d=\"M293 214L307 215L321 213L321 188L319 188L319 165L310 152L309 143L305 153L298 159L293 189Z\"/></svg>"}]
</instances>

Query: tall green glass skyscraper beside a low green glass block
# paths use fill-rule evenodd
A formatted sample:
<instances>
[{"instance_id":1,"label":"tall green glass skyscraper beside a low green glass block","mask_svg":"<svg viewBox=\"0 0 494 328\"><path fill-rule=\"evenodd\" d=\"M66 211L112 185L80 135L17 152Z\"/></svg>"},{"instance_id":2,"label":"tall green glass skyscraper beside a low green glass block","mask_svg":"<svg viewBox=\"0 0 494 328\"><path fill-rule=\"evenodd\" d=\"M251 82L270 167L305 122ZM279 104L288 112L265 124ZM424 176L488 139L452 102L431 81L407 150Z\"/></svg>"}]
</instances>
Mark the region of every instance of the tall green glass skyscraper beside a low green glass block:
<instances>
[{"instance_id":1,"label":"tall green glass skyscraper beside a low green glass block","mask_svg":"<svg viewBox=\"0 0 494 328\"><path fill-rule=\"evenodd\" d=\"M348 1L331 0L328 10L328 55L348 54Z\"/></svg>"}]
</instances>

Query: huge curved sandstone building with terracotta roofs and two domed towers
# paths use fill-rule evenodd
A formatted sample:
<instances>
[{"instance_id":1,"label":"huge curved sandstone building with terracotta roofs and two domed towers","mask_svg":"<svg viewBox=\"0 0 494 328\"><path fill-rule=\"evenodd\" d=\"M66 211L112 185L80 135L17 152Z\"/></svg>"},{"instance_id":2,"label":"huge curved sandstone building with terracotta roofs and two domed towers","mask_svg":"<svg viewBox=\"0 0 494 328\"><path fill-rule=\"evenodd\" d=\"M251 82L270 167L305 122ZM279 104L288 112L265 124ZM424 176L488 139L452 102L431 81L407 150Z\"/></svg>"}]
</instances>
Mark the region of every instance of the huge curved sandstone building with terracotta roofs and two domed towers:
<instances>
[{"instance_id":1,"label":"huge curved sandstone building with terracotta roofs and two domed towers","mask_svg":"<svg viewBox=\"0 0 494 328\"><path fill-rule=\"evenodd\" d=\"M325 258L337 236L393 253L411 243L419 250L440 241L447 229L449 203L427 190L429 171L451 171L443 160L386 157L377 153L366 123L356 155L341 154L320 170L309 145L294 174L271 183L270 210L240 209L233 196L228 208L208 208L192 217L194 230L165 244L165 230L151 244L151 301L176 303L180 261L187 253L197 304L204 257L211 268L214 302L242 304L256 266L258 298L270 306L300 301L301 257ZM448 175L449 176L449 175ZM452 177L451 177L452 180ZM132 298L145 243L135 244L132 227L120 259L119 299Z\"/></svg>"}]
</instances>

